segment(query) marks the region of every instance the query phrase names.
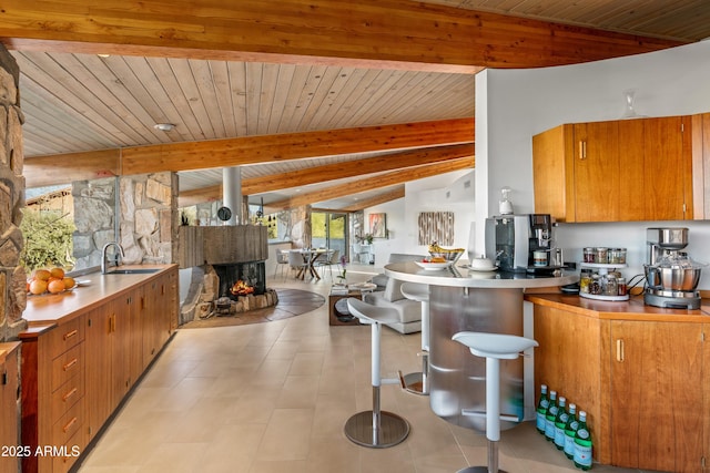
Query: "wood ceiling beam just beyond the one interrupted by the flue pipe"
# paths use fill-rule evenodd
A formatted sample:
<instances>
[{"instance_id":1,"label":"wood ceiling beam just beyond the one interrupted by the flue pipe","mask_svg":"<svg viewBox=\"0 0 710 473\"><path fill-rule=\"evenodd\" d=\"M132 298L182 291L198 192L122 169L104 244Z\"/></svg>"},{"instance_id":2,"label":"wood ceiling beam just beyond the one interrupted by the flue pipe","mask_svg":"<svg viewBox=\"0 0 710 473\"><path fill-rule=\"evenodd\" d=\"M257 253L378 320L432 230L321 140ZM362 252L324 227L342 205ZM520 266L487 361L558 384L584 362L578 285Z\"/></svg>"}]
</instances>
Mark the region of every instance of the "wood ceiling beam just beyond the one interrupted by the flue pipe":
<instances>
[{"instance_id":1,"label":"wood ceiling beam just beyond the one interrupted by the flue pipe","mask_svg":"<svg viewBox=\"0 0 710 473\"><path fill-rule=\"evenodd\" d=\"M388 187L395 184L403 184L408 181L437 176L439 174L450 173L453 171L473 168L474 162L474 157L463 157L460 160L452 160L445 163L429 164L426 166L418 166L405 171L383 173L363 179L351 181L346 184L334 185L321 191L298 194L288 199L273 202L268 204L267 207L270 209L286 209L308 205L314 202L331 200L365 191Z\"/></svg>"}]
</instances>

